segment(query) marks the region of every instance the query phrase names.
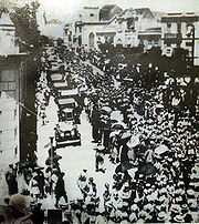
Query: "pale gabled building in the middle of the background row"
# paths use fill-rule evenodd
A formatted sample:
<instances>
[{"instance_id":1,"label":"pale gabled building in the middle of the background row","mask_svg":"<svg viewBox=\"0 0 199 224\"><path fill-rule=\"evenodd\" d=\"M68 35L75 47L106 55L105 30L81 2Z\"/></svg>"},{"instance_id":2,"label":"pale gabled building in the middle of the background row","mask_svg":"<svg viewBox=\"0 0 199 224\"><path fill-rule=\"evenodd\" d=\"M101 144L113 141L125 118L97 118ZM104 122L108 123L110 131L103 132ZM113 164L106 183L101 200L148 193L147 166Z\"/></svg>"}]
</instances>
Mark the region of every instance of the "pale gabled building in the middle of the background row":
<instances>
[{"instance_id":1,"label":"pale gabled building in the middle of the background row","mask_svg":"<svg viewBox=\"0 0 199 224\"><path fill-rule=\"evenodd\" d=\"M116 44L127 48L137 48L143 44L144 51L151 47L160 47L161 26L158 12L148 8L127 9L117 17Z\"/></svg>"}]
</instances>

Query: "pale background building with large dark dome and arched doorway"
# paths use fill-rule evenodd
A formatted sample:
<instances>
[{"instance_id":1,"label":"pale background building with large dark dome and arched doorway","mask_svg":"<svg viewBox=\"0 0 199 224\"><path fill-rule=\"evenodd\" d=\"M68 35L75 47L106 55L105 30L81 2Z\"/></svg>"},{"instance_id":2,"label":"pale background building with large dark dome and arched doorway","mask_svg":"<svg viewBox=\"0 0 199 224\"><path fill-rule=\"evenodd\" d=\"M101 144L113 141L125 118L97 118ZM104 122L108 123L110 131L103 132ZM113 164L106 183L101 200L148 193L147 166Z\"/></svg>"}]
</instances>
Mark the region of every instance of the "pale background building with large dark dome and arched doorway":
<instances>
[{"instance_id":1,"label":"pale background building with large dark dome and arched doorway","mask_svg":"<svg viewBox=\"0 0 199 224\"><path fill-rule=\"evenodd\" d=\"M66 43L71 48L97 49L100 42L113 43L116 34L115 18L123 10L116 4L84 7L73 22L65 26Z\"/></svg>"}]
</instances>

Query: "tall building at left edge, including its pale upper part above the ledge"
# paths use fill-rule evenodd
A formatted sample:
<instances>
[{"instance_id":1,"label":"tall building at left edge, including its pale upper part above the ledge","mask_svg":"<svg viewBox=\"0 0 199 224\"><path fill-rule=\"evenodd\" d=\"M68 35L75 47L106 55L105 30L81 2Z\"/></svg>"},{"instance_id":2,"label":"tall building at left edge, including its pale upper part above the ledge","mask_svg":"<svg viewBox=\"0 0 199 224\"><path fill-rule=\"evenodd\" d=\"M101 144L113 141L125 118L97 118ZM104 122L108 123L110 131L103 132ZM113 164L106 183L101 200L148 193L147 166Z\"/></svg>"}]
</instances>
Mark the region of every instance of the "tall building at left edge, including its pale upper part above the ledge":
<instances>
[{"instance_id":1,"label":"tall building at left edge, including its pale upper part above the ledge","mask_svg":"<svg viewBox=\"0 0 199 224\"><path fill-rule=\"evenodd\" d=\"M9 13L0 18L0 169L19 161L20 115L25 98L25 54L19 53Z\"/></svg>"}]
</instances>

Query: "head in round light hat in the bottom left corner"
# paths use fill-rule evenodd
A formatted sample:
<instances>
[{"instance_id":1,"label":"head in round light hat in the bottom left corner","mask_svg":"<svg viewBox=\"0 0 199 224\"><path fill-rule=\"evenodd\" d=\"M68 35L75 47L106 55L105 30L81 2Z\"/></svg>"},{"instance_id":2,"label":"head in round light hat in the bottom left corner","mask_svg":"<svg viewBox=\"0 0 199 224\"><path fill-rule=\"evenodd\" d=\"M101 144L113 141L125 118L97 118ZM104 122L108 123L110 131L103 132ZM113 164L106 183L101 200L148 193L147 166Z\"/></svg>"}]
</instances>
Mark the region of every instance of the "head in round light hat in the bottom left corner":
<instances>
[{"instance_id":1,"label":"head in round light hat in the bottom left corner","mask_svg":"<svg viewBox=\"0 0 199 224\"><path fill-rule=\"evenodd\" d=\"M10 213L13 217L18 218L24 216L27 212L27 201L23 195L14 194L9 201Z\"/></svg>"}]
</instances>

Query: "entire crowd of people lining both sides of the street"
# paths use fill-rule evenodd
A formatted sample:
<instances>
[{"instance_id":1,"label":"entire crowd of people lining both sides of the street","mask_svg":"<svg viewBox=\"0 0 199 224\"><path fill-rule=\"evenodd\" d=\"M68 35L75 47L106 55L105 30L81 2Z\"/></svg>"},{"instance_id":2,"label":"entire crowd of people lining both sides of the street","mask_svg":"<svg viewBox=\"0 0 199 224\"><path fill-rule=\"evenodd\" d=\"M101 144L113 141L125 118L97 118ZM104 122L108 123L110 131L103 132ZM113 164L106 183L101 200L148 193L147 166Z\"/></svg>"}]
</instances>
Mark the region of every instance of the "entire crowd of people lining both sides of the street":
<instances>
[{"instance_id":1,"label":"entire crowd of people lining both sides of the street","mask_svg":"<svg viewBox=\"0 0 199 224\"><path fill-rule=\"evenodd\" d=\"M6 173L9 194L30 195L35 202L55 194L56 207L63 196L70 204L65 218L75 223L198 222L198 112L185 103L188 93L181 82L154 62L119 68L111 65L112 59L102 52L66 50L63 55L57 50L54 54L65 62L63 73L70 86L78 89L78 114L85 110L92 125L95 172L106 175L104 161L108 159L115 167L113 184L106 183L100 195L95 176L83 170L77 180L82 197L70 204L59 165L62 157L51 147L45 170L10 165ZM100 70L94 72L93 67ZM44 110L53 94L45 75L38 90L44 125Z\"/></svg>"}]
</instances>

